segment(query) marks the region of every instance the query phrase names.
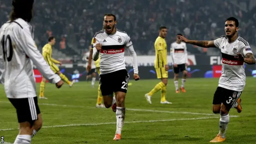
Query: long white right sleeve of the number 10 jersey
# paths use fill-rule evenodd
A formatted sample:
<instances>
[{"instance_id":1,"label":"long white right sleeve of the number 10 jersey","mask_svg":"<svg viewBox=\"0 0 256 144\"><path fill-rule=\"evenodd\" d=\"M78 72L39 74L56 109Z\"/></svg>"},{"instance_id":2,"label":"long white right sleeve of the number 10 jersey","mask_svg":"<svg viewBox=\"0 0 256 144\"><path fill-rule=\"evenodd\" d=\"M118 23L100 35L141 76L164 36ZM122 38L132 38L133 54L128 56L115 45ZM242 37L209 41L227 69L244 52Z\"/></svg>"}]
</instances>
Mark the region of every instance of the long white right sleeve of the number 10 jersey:
<instances>
[{"instance_id":1,"label":"long white right sleeve of the number 10 jersey","mask_svg":"<svg viewBox=\"0 0 256 144\"><path fill-rule=\"evenodd\" d=\"M24 27L20 32L20 45L22 46L26 55L32 60L36 68L40 73L49 80L51 83L58 83L61 79L58 74L54 74L50 66L44 60L42 54L35 46L34 40L31 36L31 32L28 26Z\"/></svg>"}]
</instances>

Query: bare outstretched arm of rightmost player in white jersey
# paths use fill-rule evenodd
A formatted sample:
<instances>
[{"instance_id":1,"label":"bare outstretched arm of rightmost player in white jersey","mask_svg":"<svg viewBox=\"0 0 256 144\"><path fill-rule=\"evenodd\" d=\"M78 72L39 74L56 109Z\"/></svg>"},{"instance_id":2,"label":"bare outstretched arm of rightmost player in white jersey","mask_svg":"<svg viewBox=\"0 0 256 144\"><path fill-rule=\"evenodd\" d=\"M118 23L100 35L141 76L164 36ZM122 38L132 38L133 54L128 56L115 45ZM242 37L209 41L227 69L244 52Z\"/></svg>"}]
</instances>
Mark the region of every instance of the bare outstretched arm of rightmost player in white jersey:
<instances>
[{"instance_id":1,"label":"bare outstretched arm of rightmost player in white jersey","mask_svg":"<svg viewBox=\"0 0 256 144\"><path fill-rule=\"evenodd\" d=\"M188 43L188 44L194 44L196 46L200 46L203 48L216 48L216 46L214 45L214 40L188 40L187 38L185 38L184 36L177 36L177 38L179 38L180 40Z\"/></svg>"}]
</instances>

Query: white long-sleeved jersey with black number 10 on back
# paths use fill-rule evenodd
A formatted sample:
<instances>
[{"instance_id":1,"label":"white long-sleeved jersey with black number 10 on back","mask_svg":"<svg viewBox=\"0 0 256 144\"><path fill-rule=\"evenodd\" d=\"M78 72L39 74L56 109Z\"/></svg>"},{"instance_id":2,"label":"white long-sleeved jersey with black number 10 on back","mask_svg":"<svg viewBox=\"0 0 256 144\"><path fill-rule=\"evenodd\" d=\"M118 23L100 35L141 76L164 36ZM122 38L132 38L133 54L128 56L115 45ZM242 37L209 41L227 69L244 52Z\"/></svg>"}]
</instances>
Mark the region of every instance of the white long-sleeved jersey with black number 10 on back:
<instances>
[{"instance_id":1,"label":"white long-sleeved jersey with black number 10 on back","mask_svg":"<svg viewBox=\"0 0 256 144\"><path fill-rule=\"evenodd\" d=\"M7 22L0 29L0 59L4 60L4 89L8 98L36 96L33 64L52 83L59 82L32 38L32 26L21 18ZM33 64L32 64L33 62Z\"/></svg>"}]
</instances>

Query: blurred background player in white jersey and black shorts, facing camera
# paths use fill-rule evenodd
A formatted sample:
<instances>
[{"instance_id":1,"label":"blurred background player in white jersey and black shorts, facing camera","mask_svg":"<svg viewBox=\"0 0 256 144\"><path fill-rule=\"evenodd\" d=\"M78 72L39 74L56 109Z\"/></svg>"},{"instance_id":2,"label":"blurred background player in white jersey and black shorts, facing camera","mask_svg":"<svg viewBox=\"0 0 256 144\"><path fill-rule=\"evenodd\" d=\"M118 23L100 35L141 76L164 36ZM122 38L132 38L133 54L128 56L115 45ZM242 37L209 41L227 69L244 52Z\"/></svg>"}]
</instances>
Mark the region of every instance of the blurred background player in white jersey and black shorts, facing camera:
<instances>
[{"instance_id":1,"label":"blurred background player in white jersey and black shorts, facing camera","mask_svg":"<svg viewBox=\"0 0 256 144\"><path fill-rule=\"evenodd\" d=\"M177 34L178 36L182 36L182 34ZM180 93L179 91L179 73L182 72L181 86L180 90L182 92L186 92L184 86L187 77L187 66L188 66L188 52L187 46L185 42L182 42L180 39L176 38L176 42L171 44L170 54L172 56L173 62L173 71L174 71L174 86L176 93Z\"/></svg>"}]
</instances>

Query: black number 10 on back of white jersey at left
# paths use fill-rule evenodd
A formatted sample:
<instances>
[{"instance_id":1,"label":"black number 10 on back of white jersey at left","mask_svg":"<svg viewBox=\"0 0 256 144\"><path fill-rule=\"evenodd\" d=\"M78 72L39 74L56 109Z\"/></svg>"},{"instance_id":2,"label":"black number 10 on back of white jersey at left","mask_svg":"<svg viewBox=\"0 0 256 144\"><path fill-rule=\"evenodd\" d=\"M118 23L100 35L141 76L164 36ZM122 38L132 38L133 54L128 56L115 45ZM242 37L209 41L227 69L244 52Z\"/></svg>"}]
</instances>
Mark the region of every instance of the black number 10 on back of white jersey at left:
<instances>
[{"instance_id":1,"label":"black number 10 on back of white jersey at left","mask_svg":"<svg viewBox=\"0 0 256 144\"><path fill-rule=\"evenodd\" d=\"M3 36L1 40L2 48L3 48L3 58L4 61L10 62L12 60L12 54L13 54L13 49L12 49L12 40L10 38L10 35L5 35ZM9 53L9 56L7 55L7 51Z\"/></svg>"}]
</instances>

